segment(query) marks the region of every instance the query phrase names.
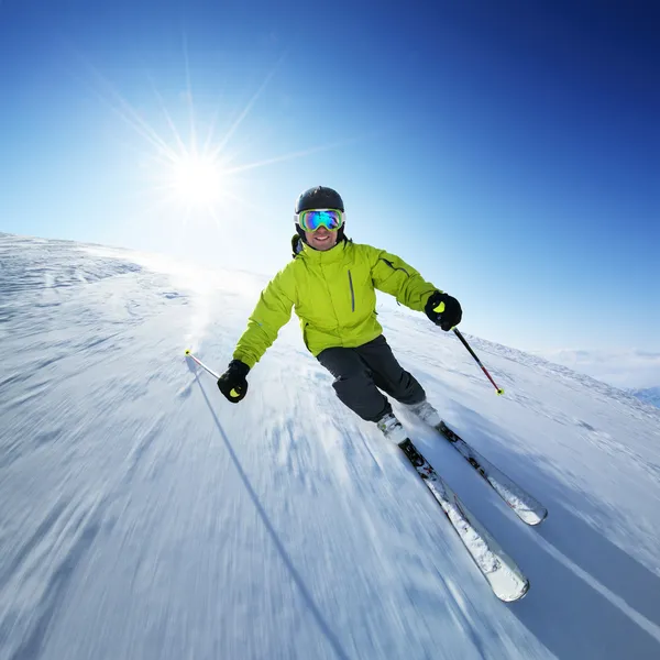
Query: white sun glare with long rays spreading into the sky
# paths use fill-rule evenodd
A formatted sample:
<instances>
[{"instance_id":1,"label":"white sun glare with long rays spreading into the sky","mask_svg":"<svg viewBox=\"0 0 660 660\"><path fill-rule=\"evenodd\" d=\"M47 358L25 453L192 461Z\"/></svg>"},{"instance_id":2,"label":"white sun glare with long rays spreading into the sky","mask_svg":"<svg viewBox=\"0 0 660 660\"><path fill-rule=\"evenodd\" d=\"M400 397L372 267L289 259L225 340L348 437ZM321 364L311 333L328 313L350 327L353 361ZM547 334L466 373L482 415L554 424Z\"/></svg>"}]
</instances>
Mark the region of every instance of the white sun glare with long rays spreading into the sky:
<instances>
[{"instance_id":1,"label":"white sun glare with long rays spreading into the sky","mask_svg":"<svg viewBox=\"0 0 660 660\"><path fill-rule=\"evenodd\" d=\"M110 80L92 65L88 65L99 82L96 92L101 101L148 146L145 151L139 152L139 167L146 185L141 193L141 198L145 200L145 208L141 211L144 217L157 218L158 222L162 222L164 216L169 213L175 221L182 219L184 224L211 218L220 227L227 217L234 212L237 205L248 209L255 217L262 217L262 205L257 204L253 195L245 194L249 189L245 173L338 148L346 143L341 141L308 146L280 155L256 157L246 163L235 162L237 154L246 151L245 146L239 148L234 146L229 150L228 144L231 140L235 141L241 124L261 98L280 63L282 59L266 76L245 107L231 112L234 119L227 122L222 135L217 135L217 124L222 122L218 111L207 121L199 120L194 103L187 52L184 53L186 89L179 97L186 101L189 114L187 132L178 128L175 114L168 110L165 97L153 81L152 90L162 114L160 123L155 118L153 121L145 119Z\"/></svg>"}]
</instances>

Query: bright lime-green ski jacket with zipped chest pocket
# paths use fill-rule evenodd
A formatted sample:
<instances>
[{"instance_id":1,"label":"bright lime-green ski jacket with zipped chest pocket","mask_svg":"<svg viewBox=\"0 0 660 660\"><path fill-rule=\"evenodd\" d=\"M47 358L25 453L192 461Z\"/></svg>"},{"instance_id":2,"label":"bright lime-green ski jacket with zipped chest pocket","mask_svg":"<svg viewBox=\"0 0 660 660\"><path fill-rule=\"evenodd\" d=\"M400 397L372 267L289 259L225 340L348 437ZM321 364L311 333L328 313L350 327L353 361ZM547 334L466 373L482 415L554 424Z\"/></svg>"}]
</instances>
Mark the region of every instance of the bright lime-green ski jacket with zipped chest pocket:
<instances>
[{"instance_id":1,"label":"bright lime-green ski jacket with zipped chest pocket","mask_svg":"<svg viewBox=\"0 0 660 660\"><path fill-rule=\"evenodd\" d=\"M294 308L315 356L372 341L383 332L375 289L416 311L424 311L428 297L440 290L398 256L371 245L343 241L327 252L304 245L262 292L233 358L252 369Z\"/></svg>"}]
</instances>

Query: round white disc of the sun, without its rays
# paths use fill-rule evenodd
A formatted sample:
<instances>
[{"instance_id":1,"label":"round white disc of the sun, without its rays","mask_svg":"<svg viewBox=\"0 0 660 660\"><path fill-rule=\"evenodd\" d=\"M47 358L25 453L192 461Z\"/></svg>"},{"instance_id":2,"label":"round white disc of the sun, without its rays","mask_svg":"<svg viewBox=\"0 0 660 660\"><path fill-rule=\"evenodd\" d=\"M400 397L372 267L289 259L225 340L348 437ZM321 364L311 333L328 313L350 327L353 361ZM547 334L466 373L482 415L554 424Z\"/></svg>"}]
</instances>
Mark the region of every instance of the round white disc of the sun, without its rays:
<instances>
[{"instance_id":1,"label":"round white disc of the sun, without its rays","mask_svg":"<svg viewBox=\"0 0 660 660\"><path fill-rule=\"evenodd\" d=\"M223 172L216 158L188 153L170 167L168 187L178 200L191 206L210 206L221 197Z\"/></svg>"}]
</instances>

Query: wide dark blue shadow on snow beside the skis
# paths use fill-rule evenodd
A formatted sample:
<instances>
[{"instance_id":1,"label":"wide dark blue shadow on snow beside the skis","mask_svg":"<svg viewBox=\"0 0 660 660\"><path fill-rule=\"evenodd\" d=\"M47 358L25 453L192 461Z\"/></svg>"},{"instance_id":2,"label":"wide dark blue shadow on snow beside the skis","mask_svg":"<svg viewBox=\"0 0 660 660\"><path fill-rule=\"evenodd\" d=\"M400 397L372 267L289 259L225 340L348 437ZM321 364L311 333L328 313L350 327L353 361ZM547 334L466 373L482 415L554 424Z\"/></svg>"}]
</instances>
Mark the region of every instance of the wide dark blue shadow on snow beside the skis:
<instances>
[{"instance_id":1,"label":"wide dark blue shadow on snow beside the skis","mask_svg":"<svg viewBox=\"0 0 660 660\"><path fill-rule=\"evenodd\" d=\"M454 406L469 420L472 437L506 437L505 429ZM497 465L505 463L495 444L484 455ZM502 527L508 536L506 547L531 583L510 612L562 660L660 658L660 578L564 506L582 501L588 516L583 495L568 492L565 483L558 483L530 455L516 455L515 462L507 473L534 473L530 491L543 494L549 516L538 528L517 525L512 516L509 522L499 520L498 531ZM490 513L505 515L501 507Z\"/></svg>"}]
</instances>

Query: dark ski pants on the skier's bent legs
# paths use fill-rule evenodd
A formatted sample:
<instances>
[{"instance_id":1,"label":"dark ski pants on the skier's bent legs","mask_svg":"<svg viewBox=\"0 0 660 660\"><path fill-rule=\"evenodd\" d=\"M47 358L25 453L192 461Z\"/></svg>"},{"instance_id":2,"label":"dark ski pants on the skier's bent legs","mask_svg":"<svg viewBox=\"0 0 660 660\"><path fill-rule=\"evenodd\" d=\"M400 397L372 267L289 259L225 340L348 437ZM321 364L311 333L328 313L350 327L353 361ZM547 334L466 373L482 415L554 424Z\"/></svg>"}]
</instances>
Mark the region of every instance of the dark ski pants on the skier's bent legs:
<instances>
[{"instance_id":1,"label":"dark ski pants on the skier's bent legs","mask_svg":"<svg viewBox=\"0 0 660 660\"><path fill-rule=\"evenodd\" d=\"M326 349L317 359L334 376L332 387L340 400L367 421L392 413L383 392L402 404L426 398L421 385L396 361L382 334L355 349Z\"/></svg>"}]
</instances>

